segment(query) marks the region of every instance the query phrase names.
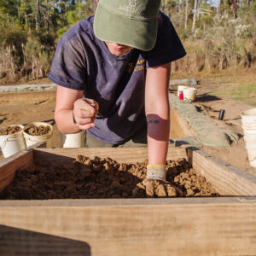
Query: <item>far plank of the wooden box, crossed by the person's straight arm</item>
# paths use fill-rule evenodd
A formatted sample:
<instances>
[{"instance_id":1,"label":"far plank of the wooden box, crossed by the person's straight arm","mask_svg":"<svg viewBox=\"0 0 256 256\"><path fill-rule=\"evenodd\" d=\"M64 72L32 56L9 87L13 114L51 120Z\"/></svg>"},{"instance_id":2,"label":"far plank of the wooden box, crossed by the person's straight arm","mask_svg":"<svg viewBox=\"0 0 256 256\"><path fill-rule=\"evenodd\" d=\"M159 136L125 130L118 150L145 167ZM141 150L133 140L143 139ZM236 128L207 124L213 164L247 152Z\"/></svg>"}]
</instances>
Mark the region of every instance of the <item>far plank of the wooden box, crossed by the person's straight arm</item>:
<instances>
[{"instance_id":1,"label":"far plank of the wooden box, crossed by the person's straight arm","mask_svg":"<svg viewBox=\"0 0 256 256\"><path fill-rule=\"evenodd\" d=\"M35 148L35 159L38 164L75 159L79 154L90 158L110 157L120 163L135 163L148 159L148 148ZM63 157L64 156L64 157ZM185 148L169 148L167 159L187 159Z\"/></svg>"}]
</instances>

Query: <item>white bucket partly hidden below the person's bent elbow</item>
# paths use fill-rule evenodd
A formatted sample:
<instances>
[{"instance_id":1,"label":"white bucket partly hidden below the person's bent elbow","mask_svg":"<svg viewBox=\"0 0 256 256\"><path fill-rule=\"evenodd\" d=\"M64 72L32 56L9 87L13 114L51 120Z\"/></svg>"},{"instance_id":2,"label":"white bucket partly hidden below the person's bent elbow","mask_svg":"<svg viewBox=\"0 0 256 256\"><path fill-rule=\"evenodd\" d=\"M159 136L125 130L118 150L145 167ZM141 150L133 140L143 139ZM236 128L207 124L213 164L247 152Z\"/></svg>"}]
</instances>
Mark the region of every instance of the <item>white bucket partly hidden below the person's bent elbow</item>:
<instances>
[{"instance_id":1,"label":"white bucket partly hidden below the person's bent elbow","mask_svg":"<svg viewBox=\"0 0 256 256\"><path fill-rule=\"evenodd\" d=\"M63 148L84 148L84 131L78 133L61 133L61 143Z\"/></svg>"}]
</instances>

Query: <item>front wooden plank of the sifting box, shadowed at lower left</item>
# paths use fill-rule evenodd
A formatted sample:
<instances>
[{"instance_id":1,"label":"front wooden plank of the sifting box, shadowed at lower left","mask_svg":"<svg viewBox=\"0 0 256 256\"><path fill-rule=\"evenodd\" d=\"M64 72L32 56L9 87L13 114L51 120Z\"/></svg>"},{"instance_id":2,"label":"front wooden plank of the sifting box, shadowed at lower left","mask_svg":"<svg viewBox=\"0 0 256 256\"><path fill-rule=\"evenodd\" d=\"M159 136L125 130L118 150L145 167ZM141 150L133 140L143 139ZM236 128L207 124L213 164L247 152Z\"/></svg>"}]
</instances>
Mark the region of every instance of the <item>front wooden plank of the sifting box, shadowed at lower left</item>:
<instances>
[{"instance_id":1,"label":"front wooden plank of the sifting box, shadowed at lower left","mask_svg":"<svg viewBox=\"0 0 256 256\"><path fill-rule=\"evenodd\" d=\"M73 244L73 255L77 255L76 248L78 253L81 250L81 244L74 241L89 247L84 255L256 252L256 197L104 200L102 205L96 201L1 201L0 237L14 240L17 252L29 246L36 250L37 246L45 255L61 251L61 242L56 247L45 244L53 244L56 237ZM17 236L17 229L26 232ZM48 237L33 244L27 236L34 236L34 232ZM27 245L29 241L32 245ZM34 254L26 255L39 254L33 250Z\"/></svg>"}]
</instances>

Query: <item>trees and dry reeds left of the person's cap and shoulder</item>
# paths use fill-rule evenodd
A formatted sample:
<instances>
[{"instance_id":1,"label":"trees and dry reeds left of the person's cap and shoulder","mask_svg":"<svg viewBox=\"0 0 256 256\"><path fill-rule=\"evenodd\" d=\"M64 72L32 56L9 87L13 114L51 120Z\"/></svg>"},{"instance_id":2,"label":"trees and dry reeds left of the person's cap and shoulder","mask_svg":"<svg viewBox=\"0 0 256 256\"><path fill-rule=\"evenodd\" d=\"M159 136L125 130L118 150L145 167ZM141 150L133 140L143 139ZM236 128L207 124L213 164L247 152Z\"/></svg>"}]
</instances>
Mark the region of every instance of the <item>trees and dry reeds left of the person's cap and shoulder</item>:
<instances>
[{"instance_id":1,"label":"trees and dry reeds left of the person's cap and shoulder","mask_svg":"<svg viewBox=\"0 0 256 256\"><path fill-rule=\"evenodd\" d=\"M58 40L95 7L94 0L0 1L0 78L46 77Z\"/></svg>"}]
</instances>

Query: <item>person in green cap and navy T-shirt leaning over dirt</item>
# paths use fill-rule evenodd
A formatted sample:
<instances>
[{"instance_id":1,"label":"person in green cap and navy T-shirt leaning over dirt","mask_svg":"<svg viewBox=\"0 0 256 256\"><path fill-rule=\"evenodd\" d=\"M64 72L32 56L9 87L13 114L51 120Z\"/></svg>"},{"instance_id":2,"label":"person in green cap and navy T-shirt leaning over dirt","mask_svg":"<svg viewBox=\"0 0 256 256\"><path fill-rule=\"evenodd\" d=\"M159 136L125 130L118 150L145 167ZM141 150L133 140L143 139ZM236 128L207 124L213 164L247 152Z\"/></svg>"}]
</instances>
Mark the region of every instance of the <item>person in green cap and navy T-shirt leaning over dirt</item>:
<instances>
[{"instance_id":1,"label":"person in green cap and navy T-shirt leaning over dirt","mask_svg":"<svg viewBox=\"0 0 256 256\"><path fill-rule=\"evenodd\" d=\"M186 53L160 0L101 0L57 45L62 133L85 130L85 147L148 145L148 179L165 180L171 62Z\"/></svg>"}]
</instances>

